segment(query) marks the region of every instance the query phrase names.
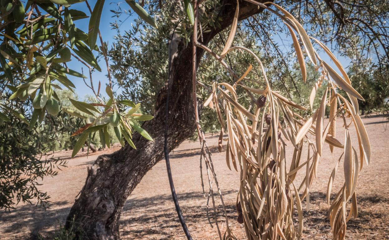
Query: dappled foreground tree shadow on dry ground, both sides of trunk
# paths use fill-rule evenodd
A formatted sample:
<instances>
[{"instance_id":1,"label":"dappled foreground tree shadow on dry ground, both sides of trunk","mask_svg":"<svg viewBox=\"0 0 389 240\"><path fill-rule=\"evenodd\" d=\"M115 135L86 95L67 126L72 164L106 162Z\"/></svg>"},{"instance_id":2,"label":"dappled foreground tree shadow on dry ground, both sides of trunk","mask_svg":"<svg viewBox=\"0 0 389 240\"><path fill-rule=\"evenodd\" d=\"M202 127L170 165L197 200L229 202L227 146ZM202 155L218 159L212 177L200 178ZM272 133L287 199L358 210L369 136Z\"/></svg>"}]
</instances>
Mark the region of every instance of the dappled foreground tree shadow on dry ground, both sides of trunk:
<instances>
[{"instance_id":1,"label":"dappled foreground tree shadow on dry ground, both sides of trunk","mask_svg":"<svg viewBox=\"0 0 389 240\"><path fill-rule=\"evenodd\" d=\"M236 191L226 191L224 194L236 193ZM313 236L315 233L325 233L330 235L329 222L327 219L328 206L326 205L326 195L321 192L313 192L310 195L312 206L321 206L318 209L307 212L304 210L304 235ZM208 222L207 207L204 206L205 200L201 192L191 192L178 195L185 220L191 231L202 231L202 226ZM218 196L215 194L215 199ZM357 219L351 219L347 223L347 231L357 234L360 231L365 233L374 233L378 228L386 229L389 224L388 212L376 211L382 206L389 209L389 198L383 196L359 196L358 198L359 215ZM39 233L46 236L46 239L52 239L55 230L60 224L64 224L67 214L70 210L68 202L51 203L50 208L46 210L31 205L25 205L9 212L0 212L0 222L7 222L4 227L6 233L18 233L18 229L23 226L30 226L28 238L39 239ZM212 205L212 201L210 201ZM305 200L303 207L305 208ZM325 206L325 207L323 207ZM209 209L210 221L214 224L212 208ZM236 224L237 214L234 205L227 205L226 212L230 221ZM223 209L217 206L217 215L223 219ZM14 222L18 216L18 222ZM297 214L296 214L296 228ZM182 232L180 222L175 212L171 195L158 195L149 198L136 198L126 202L122 212L121 236L124 239L173 239L177 232ZM11 224L9 224L11 222ZM3 225L3 224L2 224ZM53 229L54 226L54 229ZM381 230L382 230L381 229ZM216 229L214 228L216 232ZM18 235L16 234L15 237ZM385 239L378 237L374 239ZM306 238L311 239L311 238ZM319 238L317 238L319 239ZM327 239L327 238L323 238ZM350 238L357 239L357 238Z\"/></svg>"}]
</instances>

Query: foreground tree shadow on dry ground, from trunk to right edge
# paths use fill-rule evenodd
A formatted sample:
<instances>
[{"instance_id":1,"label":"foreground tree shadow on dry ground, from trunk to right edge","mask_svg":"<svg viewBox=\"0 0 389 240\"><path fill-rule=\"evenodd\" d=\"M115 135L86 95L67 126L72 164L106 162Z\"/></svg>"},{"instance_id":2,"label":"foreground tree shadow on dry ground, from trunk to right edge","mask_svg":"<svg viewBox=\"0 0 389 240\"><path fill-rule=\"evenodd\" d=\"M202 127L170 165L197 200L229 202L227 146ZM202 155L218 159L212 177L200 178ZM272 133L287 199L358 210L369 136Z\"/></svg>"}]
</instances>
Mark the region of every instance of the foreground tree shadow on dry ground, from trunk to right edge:
<instances>
[{"instance_id":1,"label":"foreground tree shadow on dry ground, from trunk to right edge","mask_svg":"<svg viewBox=\"0 0 389 240\"><path fill-rule=\"evenodd\" d=\"M235 193L235 191L229 191L224 194L229 193ZM184 202L185 200L196 201L198 199L202 203L197 206L185 206L184 204L181 206L183 215L191 231L201 231L204 223L208 221L206 214L207 208L200 206L203 205L205 201L202 197L199 198L199 196L201 196L199 193L179 195L179 200L181 202ZM335 195L333 197L335 197ZM217 198L217 196L215 196L215 198ZM126 213L123 213L123 216L130 215L130 217L121 221L121 226L125 226L121 230L121 235L123 237L126 236L125 239L173 239L173 237L177 235L177 232L182 232L182 229L171 199L172 197L170 195L163 195L152 198L137 198L128 201L123 209L126 211ZM375 206L387 205L389 208L389 198L382 196L359 196L357 200L359 215L357 219L351 219L347 223L347 231L349 233L357 234L358 231L366 231L366 233L372 234L377 230L377 227L380 227L379 224L377 224L377 221L382 221L382 228L387 226L386 224L389 223L388 213L375 211ZM310 202L311 206L320 205L321 207L309 212L304 210L304 235L308 237L306 239L312 239L312 236L315 236L316 233L325 233L328 237L330 235L330 226L327 219L328 206L326 205L325 193L311 193ZM305 208L305 201L303 201L303 207ZM219 218L223 219L223 209L219 206L217 210ZM231 222L236 224L237 214L235 206L226 206L226 211ZM209 214L212 218L212 208L210 208ZM298 228L297 214L295 217L295 227ZM214 219L211 219L211 222L214 224ZM214 229L214 231L217 230ZM163 237L161 238L161 236ZM375 239L387 239L385 237L382 238L377 236ZM358 238L350 236L349 239Z\"/></svg>"}]
</instances>

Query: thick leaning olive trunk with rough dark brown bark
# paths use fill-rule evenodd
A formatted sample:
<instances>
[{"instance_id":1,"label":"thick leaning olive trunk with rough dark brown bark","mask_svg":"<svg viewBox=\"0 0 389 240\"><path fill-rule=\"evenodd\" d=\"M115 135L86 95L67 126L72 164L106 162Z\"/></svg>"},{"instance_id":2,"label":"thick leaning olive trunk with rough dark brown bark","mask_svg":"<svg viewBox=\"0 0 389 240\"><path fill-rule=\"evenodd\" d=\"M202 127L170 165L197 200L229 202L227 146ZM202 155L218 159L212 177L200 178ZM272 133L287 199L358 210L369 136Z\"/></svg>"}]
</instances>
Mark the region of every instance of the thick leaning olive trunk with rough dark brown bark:
<instances>
[{"instance_id":1,"label":"thick leaning olive trunk with rough dark brown bark","mask_svg":"<svg viewBox=\"0 0 389 240\"><path fill-rule=\"evenodd\" d=\"M236 2L222 0L225 7L220 17L223 19L221 28L214 29L203 35L207 44L217 33L230 26ZM239 19L245 19L263 9L256 5L239 1ZM203 54L198 48L197 61ZM172 74L169 102L168 148L170 150L190 137L195 130L195 116L192 98L192 47L177 45L177 54L172 60ZM145 122L143 128L148 131L154 141L148 141L139 134L133 135L137 147L132 149L128 144L119 151L109 155L99 156L88 168L88 176L79 197L67 217L66 228L72 223L79 228L79 233L93 240L118 240L119 219L123 205L140 182L142 177L163 158L163 143L165 130L166 85L159 92L155 104L154 119ZM73 229L75 229L73 228Z\"/></svg>"}]
</instances>

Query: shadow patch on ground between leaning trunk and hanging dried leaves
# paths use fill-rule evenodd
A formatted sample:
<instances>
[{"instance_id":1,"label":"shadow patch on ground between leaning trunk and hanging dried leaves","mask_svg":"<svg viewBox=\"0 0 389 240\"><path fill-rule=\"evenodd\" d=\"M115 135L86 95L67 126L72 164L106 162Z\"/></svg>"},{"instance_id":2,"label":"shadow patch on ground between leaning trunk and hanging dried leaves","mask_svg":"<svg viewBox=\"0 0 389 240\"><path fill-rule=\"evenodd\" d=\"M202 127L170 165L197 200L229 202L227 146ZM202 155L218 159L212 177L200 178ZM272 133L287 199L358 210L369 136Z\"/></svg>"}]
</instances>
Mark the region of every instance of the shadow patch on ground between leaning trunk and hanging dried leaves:
<instances>
[{"instance_id":1,"label":"shadow patch on ground between leaning trunk and hanging dried leaves","mask_svg":"<svg viewBox=\"0 0 389 240\"><path fill-rule=\"evenodd\" d=\"M231 193L236 193L236 191L223 192L224 195ZM178 194L177 197L189 229L198 228L208 222L207 207L204 206L206 200L201 192ZM219 200L219 195L215 193L214 198ZM209 201L209 204L212 205L212 200ZM232 218L231 221L236 221L235 206L226 205L226 212ZM212 224L214 224L213 214L212 208L209 208ZM170 194L128 200L122 215L130 215L121 221L121 226L125 226L121 229L121 236L126 237L125 239L170 240L173 239L173 236L177 236L177 232L182 232ZM220 205L217 207L217 215L223 219L223 208Z\"/></svg>"}]
</instances>

